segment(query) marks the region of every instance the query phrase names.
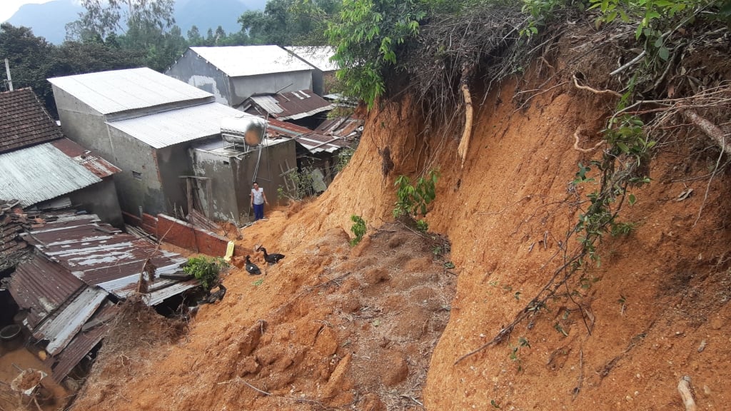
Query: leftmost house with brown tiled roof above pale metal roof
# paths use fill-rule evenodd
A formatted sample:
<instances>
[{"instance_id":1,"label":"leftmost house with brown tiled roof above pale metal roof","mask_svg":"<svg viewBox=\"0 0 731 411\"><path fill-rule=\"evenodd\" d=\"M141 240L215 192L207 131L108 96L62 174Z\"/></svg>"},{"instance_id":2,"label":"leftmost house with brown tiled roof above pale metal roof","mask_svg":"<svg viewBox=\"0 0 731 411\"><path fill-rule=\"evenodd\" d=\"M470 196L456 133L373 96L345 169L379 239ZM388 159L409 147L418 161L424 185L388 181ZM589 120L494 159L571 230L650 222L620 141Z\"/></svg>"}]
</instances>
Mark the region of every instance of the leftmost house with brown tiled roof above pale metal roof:
<instances>
[{"instance_id":1,"label":"leftmost house with brown tiled roof above pale metal roof","mask_svg":"<svg viewBox=\"0 0 731 411\"><path fill-rule=\"evenodd\" d=\"M83 206L115 227L121 170L72 140L30 88L0 93L0 198L31 206Z\"/></svg>"}]
</instances>

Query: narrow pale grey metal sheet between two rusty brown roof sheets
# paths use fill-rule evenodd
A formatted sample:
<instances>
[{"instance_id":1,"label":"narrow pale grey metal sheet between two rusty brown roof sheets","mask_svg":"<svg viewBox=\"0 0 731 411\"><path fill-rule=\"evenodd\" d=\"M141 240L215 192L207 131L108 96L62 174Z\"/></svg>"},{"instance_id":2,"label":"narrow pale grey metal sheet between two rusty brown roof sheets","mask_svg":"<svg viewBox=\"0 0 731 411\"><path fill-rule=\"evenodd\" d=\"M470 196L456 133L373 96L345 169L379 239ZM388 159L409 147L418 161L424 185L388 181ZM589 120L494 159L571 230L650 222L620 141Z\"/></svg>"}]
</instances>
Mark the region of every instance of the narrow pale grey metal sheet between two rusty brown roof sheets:
<instances>
[{"instance_id":1,"label":"narrow pale grey metal sheet between two rusty brown roof sheets","mask_svg":"<svg viewBox=\"0 0 731 411\"><path fill-rule=\"evenodd\" d=\"M107 292L99 287L85 287L84 290L63 308L48 317L33 331L37 339L48 340L45 350L56 355L71 342L86 320L107 299Z\"/></svg>"}]
</instances>

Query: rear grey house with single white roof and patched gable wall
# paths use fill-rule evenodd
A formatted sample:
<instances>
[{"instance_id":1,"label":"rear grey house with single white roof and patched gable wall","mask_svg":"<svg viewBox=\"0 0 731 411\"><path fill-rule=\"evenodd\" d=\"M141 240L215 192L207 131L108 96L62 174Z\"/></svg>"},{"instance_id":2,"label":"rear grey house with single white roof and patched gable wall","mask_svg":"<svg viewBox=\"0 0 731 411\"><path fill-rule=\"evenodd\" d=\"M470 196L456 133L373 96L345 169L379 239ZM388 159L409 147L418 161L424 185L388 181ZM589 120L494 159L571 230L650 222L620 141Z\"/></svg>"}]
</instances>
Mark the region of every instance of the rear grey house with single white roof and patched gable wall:
<instances>
[{"instance_id":1,"label":"rear grey house with single white roof and patched gable wall","mask_svg":"<svg viewBox=\"0 0 731 411\"><path fill-rule=\"evenodd\" d=\"M165 72L233 108L254 94L311 90L310 64L276 45L192 47Z\"/></svg>"}]
</instances>

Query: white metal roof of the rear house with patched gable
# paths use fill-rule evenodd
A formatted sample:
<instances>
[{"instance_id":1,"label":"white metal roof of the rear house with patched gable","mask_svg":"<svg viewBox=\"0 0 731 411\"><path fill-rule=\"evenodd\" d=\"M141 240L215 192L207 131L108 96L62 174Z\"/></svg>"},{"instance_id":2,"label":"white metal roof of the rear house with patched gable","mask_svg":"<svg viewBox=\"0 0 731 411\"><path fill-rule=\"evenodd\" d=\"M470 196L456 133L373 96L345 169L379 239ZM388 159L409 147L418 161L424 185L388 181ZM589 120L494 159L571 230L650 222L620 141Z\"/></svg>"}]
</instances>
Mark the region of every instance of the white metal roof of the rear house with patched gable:
<instances>
[{"instance_id":1,"label":"white metal roof of the rear house with patched gable","mask_svg":"<svg viewBox=\"0 0 731 411\"><path fill-rule=\"evenodd\" d=\"M311 70L278 45L236 45L190 48L229 77Z\"/></svg>"}]
</instances>

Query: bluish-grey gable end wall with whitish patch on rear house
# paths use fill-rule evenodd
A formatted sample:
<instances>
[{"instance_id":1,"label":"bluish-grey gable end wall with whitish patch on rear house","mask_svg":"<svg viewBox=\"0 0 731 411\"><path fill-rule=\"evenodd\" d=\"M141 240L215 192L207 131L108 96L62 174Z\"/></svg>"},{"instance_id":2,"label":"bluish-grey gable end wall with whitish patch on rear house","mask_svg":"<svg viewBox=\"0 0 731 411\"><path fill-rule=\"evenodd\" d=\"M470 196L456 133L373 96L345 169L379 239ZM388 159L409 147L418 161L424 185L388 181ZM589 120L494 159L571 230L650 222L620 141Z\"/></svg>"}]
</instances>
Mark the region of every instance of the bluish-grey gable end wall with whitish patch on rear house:
<instances>
[{"instance_id":1,"label":"bluish-grey gable end wall with whitish patch on rear house","mask_svg":"<svg viewBox=\"0 0 731 411\"><path fill-rule=\"evenodd\" d=\"M227 75L190 49L186 50L183 56L167 69L165 74L208 91L216 96L216 102L231 105L231 91Z\"/></svg>"}]
</instances>

